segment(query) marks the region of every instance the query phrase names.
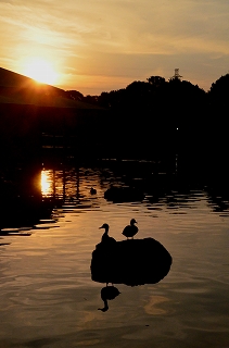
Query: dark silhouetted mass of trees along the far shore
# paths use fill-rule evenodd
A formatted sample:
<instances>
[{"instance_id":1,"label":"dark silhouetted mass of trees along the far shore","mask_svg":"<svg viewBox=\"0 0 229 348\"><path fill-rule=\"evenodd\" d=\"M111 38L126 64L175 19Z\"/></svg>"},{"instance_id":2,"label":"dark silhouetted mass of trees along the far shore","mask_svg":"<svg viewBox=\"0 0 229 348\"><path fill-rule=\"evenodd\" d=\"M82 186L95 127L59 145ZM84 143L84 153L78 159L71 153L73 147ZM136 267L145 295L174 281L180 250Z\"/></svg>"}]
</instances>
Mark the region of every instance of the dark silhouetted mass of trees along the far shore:
<instances>
[{"instance_id":1,"label":"dark silhouetted mass of trees along the far shore","mask_svg":"<svg viewBox=\"0 0 229 348\"><path fill-rule=\"evenodd\" d=\"M229 74L212 84L209 91L180 78L168 82L151 76L126 88L86 96L66 91L68 98L100 105L110 111L104 139L138 151L170 149L218 151L227 146Z\"/></svg>"}]
</instances>

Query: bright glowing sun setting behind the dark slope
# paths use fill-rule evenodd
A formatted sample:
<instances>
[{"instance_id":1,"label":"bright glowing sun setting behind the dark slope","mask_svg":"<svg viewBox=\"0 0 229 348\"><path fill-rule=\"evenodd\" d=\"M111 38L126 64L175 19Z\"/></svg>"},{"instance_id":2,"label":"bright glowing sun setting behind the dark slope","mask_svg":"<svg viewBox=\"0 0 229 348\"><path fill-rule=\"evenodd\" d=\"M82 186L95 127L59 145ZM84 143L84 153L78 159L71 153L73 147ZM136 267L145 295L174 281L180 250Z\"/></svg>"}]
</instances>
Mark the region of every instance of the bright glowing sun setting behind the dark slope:
<instances>
[{"instance_id":1,"label":"bright glowing sun setting behind the dark slope","mask_svg":"<svg viewBox=\"0 0 229 348\"><path fill-rule=\"evenodd\" d=\"M55 84L58 74L52 65L42 59L36 58L27 62L25 67L25 75L43 84Z\"/></svg>"}]
</instances>

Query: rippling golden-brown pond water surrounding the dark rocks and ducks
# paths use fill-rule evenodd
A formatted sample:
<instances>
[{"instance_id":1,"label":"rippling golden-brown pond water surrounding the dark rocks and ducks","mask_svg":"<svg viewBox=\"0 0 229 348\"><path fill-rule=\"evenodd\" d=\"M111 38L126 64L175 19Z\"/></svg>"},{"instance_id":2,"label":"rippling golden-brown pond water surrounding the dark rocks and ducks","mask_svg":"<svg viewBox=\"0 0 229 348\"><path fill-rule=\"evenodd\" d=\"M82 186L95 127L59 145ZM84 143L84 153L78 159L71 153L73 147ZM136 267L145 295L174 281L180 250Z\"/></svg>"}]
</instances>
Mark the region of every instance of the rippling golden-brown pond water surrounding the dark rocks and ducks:
<instances>
[{"instance_id":1,"label":"rippling golden-brown pond water surrounding the dark rocks and ducks","mask_svg":"<svg viewBox=\"0 0 229 348\"><path fill-rule=\"evenodd\" d=\"M138 172L43 170L43 198L64 199L48 220L3 229L0 239L0 347L229 347L229 201L203 183L156 183ZM103 198L111 184L144 189L142 202ZM90 188L97 189L96 195ZM12 211L12 219L14 212ZM104 284L91 281L90 262L103 223L123 239L131 217L136 238L153 237L173 257L157 284L116 285L103 302ZM10 227L10 222L9 222Z\"/></svg>"}]
</instances>

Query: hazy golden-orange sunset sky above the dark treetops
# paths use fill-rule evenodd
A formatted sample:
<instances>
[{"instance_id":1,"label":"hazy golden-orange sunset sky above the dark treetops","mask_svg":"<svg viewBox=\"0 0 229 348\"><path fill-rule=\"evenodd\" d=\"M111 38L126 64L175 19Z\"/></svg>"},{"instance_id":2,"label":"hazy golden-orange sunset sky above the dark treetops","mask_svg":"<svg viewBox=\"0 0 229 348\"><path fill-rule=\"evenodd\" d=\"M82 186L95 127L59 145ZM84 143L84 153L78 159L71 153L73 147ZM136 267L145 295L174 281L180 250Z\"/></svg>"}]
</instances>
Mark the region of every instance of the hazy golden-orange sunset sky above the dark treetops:
<instances>
[{"instance_id":1,"label":"hazy golden-orange sunset sky above the dark treetops","mask_svg":"<svg viewBox=\"0 0 229 348\"><path fill-rule=\"evenodd\" d=\"M177 67L208 90L229 73L229 1L0 0L0 42L1 67L84 95Z\"/></svg>"}]
</instances>

